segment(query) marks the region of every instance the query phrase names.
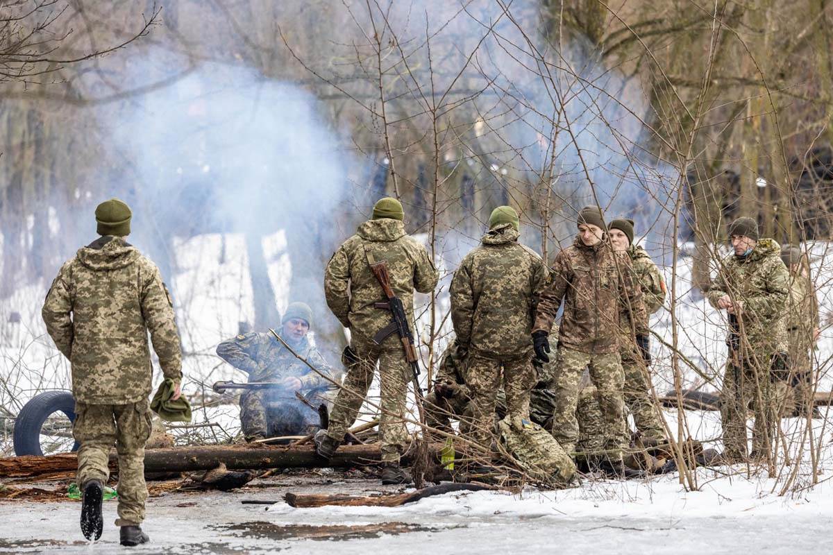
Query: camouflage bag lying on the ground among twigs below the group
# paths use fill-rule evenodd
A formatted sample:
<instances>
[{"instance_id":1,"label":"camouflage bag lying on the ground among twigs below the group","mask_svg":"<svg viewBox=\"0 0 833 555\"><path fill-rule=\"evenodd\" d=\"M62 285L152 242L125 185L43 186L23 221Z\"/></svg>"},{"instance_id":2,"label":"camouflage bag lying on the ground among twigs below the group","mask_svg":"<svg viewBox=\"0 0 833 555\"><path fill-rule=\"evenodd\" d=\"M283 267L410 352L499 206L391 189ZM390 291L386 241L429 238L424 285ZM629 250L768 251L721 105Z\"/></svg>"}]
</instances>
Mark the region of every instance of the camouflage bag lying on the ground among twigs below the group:
<instances>
[{"instance_id":1,"label":"camouflage bag lying on the ground among twigs below the group","mask_svg":"<svg viewBox=\"0 0 833 555\"><path fill-rule=\"evenodd\" d=\"M576 464L555 438L538 424L526 419L509 419L497 423L500 432L498 449L513 458L531 478L544 483L567 485L576 475Z\"/></svg>"}]
</instances>

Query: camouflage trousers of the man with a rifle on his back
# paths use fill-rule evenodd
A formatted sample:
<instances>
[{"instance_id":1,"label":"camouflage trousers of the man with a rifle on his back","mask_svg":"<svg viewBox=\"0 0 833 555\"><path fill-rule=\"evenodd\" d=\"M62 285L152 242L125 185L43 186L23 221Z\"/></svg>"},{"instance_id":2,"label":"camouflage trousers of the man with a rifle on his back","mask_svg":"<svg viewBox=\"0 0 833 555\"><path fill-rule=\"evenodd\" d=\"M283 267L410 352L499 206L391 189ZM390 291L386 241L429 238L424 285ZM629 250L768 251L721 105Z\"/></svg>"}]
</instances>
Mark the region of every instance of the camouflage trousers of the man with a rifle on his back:
<instances>
[{"instance_id":1,"label":"camouflage trousers of the man with a rifle on his back","mask_svg":"<svg viewBox=\"0 0 833 555\"><path fill-rule=\"evenodd\" d=\"M382 461L398 463L408 443L405 405L411 367L405 359L405 351L399 338L395 336L388 337L381 345L354 336L352 349L358 361L347 368L347 376L330 414L327 435L339 442L344 439L344 434L356 421L359 410L367 398L367 391L370 389L378 363L382 389L382 399L379 403L382 408L379 415Z\"/></svg>"}]
</instances>

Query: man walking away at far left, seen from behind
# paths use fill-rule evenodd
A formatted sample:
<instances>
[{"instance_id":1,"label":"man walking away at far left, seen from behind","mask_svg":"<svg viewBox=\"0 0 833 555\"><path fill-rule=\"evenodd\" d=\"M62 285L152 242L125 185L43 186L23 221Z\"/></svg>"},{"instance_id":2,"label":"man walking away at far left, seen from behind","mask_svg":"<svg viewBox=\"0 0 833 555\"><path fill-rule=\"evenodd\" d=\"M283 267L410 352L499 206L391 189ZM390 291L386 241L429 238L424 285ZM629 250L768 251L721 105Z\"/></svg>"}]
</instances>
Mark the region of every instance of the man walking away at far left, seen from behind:
<instances>
[{"instance_id":1,"label":"man walking away at far left, seen from behind","mask_svg":"<svg viewBox=\"0 0 833 555\"><path fill-rule=\"evenodd\" d=\"M162 373L180 396L182 352L171 295L159 270L124 237L130 208L118 199L96 208L101 237L62 265L43 304L43 321L72 366L78 448L77 483L83 493L81 530L101 537L107 458L118 454L118 518L122 545L148 541L145 518L145 442L151 434L153 367L150 332Z\"/></svg>"}]
</instances>

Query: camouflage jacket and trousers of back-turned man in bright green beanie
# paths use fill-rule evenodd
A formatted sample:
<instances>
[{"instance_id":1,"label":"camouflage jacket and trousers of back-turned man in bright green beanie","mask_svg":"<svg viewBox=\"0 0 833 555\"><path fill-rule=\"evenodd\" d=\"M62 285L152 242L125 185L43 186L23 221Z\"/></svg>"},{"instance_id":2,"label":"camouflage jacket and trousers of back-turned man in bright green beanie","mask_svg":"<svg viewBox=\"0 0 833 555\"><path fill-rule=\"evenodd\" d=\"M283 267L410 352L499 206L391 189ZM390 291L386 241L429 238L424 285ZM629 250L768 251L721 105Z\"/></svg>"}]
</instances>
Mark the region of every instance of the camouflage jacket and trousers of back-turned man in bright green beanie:
<instances>
[{"instance_id":1,"label":"camouflage jacket and trousers of back-turned man in bright green beanie","mask_svg":"<svg viewBox=\"0 0 833 555\"><path fill-rule=\"evenodd\" d=\"M534 250L517 242L511 224L496 225L467 254L451 280L451 321L468 351L471 439L491 444L498 389L506 392L510 419L529 419L532 315L548 272Z\"/></svg>"}]
</instances>

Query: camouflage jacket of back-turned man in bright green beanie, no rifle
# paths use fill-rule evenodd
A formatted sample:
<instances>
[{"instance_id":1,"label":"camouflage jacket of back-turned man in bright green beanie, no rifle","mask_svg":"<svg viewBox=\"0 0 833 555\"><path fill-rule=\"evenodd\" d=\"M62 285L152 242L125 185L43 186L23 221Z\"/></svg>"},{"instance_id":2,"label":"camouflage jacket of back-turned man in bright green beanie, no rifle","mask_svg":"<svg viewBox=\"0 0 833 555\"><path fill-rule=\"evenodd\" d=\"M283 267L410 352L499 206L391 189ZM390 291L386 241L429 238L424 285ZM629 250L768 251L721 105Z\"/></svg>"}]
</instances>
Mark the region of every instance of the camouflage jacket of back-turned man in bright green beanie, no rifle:
<instances>
[{"instance_id":1,"label":"camouflage jacket of back-turned man in bright green beanie, no rifle","mask_svg":"<svg viewBox=\"0 0 833 555\"><path fill-rule=\"evenodd\" d=\"M451 280L457 340L486 357L516 357L532 349L532 316L549 272L518 236L511 224L490 230Z\"/></svg>"}]
</instances>

